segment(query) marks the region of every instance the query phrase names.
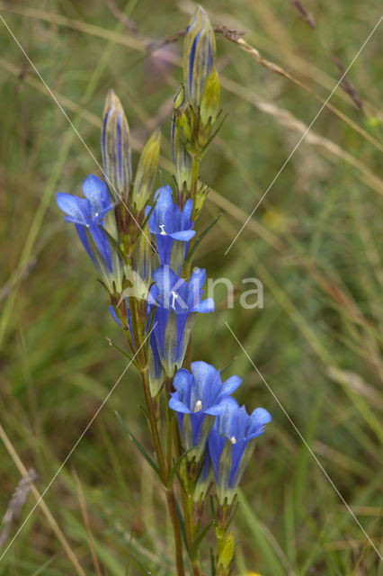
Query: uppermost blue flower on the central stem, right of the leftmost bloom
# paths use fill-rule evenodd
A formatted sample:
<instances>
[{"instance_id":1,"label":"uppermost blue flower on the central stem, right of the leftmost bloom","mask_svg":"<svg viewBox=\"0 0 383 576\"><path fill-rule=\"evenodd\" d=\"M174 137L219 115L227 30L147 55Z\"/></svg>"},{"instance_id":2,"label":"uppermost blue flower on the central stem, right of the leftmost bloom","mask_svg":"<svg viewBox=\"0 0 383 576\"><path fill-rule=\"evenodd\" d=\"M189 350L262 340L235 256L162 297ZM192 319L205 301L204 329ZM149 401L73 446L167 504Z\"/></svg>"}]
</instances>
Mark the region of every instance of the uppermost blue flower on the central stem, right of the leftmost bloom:
<instances>
[{"instance_id":1,"label":"uppermost blue flower on the central stem, right of the leftmost bloom","mask_svg":"<svg viewBox=\"0 0 383 576\"><path fill-rule=\"evenodd\" d=\"M180 274L186 257L189 240L195 235L191 221L192 201L189 199L183 211L174 204L170 186L159 188L155 194L156 206L148 223L152 234L156 235L156 246L160 266L169 265ZM147 207L147 213L150 207Z\"/></svg>"}]
</instances>

